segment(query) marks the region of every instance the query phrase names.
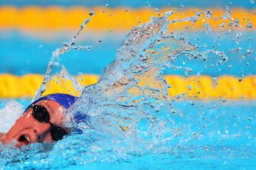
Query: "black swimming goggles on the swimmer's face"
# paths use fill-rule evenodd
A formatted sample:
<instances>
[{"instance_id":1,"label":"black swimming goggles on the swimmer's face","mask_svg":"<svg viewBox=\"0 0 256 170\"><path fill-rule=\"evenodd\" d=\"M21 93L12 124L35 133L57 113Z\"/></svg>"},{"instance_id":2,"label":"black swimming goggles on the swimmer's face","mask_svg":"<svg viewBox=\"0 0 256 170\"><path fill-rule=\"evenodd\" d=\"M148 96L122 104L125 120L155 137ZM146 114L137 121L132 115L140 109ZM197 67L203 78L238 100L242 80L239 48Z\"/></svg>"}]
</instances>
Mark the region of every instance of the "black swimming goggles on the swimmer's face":
<instances>
[{"instance_id":1,"label":"black swimming goggles on the swimmer's face","mask_svg":"<svg viewBox=\"0 0 256 170\"><path fill-rule=\"evenodd\" d=\"M67 132L59 126L54 126L53 123L49 121L49 112L42 105L33 105L33 117L40 123L51 124L51 138L54 141L63 139L67 135Z\"/></svg>"}]
</instances>

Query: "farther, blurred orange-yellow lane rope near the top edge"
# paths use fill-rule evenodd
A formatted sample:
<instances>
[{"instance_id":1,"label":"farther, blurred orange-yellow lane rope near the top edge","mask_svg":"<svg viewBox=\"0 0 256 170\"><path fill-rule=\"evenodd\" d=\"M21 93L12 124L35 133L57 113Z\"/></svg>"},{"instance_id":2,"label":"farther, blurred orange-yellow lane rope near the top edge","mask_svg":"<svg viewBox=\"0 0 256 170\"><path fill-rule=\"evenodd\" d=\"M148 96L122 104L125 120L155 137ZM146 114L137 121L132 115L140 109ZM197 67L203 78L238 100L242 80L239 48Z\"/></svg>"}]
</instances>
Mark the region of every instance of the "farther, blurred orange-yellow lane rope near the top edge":
<instances>
[{"instance_id":1,"label":"farther, blurred orange-yellow lane rope near the top edge","mask_svg":"<svg viewBox=\"0 0 256 170\"><path fill-rule=\"evenodd\" d=\"M124 7L109 8L109 7L59 7L59 6L0 6L0 29L14 30L77 30L83 20L88 16L90 11L93 11L93 22L87 25L88 31L127 31L133 26L145 23L150 20L151 16L159 17L166 11L174 11L174 14L169 17L170 20L192 17L197 12L205 11L206 9L187 8L181 12L176 12L176 8L167 7L161 8L158 12L155 9L126 9ZM210 8L213 16L216 18L225 14L224 9ZM255 30L256 15L255 9L249 10L244 8L231 9L231 17L239 22L224 22L223 19L214 20L210 18L209 24L213 30ZM177 22L175 25L169 25L169 30L189 31L202 30L207 21L204 16L200 16L193 25L190 22ZM247 25L252 25L249 28Z\"/></svg>"}]
</instances>

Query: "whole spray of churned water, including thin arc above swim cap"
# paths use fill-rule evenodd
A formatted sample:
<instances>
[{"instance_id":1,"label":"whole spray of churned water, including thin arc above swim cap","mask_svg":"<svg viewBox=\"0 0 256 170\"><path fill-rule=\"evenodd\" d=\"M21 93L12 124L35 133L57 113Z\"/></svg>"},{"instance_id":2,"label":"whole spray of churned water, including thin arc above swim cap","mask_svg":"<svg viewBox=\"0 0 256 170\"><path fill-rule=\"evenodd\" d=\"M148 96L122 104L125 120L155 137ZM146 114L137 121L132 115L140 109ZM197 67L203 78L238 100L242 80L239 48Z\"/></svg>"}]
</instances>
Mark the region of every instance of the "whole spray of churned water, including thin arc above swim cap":
<instances>
[{"instance_id":1,"label":"whole spray of churned water, including thin arc above swim cap","mask_svg":"<svg viewBox=\"0 0 256 170\"><path fill-rule=\"evenodd\" d=\"M209 139L204 137L207 129L215 129L215 124L211 124L214 119L225 116L233 118L231 121L237 121L238 118L233 116L233 110L233 115L225 115L223 112L214 115L210 110L208 117L205 110L209 110L209 106L204 107L192 101L187 103L190 109L194 108L193 111L198 116L188 115L186 110L174 110L176 99L168 99L169 86L163 79L164 69L177 68L174 64L179 57L207 61L208 57L214 56L218 64L228 60L228 57L217 49L199 51L199 48L187 38L177 38L166 31L168 25L176 22L195 23L200 15L214 18L210 10L198 12L189 18L169 21L168 17L171 14L173 12L167 12L163 17L152 17L149 22L135 26L122 41L116 52L116 60L106 67L98 83L81 90L80 99L68 111L66 124L74 126L69 121L74 113L90 116L87 123L75 124L82 129L82 135L73 134L54 145L32 144L20 150L0 145L1 165L19 165L22 168L65 168L93 162L113 163L147 154L168 153L181 156L179 152L193 153L193 148L187 146L195 144L198 140L205 141L207 145L216 142L219 144L224 138L244 137L243 132L234 132L233 136L229 136L228 132L221 132L218 129L210 131ZM230 14L228 10L221 17L224 22L231 20ZM74 44L75 38L88 21L85 21L69 43L53 52L45 79L35 98L40 97L45 89L44 84L51 79L54 60L70 49L84 49L83 46L75 47ZM210 25L205 25L205 29L207 33L211 33ZM250 51L253 49L250 48ZM69 77L67 71L64 68L62 70L63 76ZM187 67L186 72L190 71ZM185 94L181 94L177 99L184 96ZM184 103L176 108L182 107ZM210 105L210 108L218 109L215 105ZM189 121L179 123L178 120L184 117ZM176 121L177 118L179 119ZM239 121L241 119L244 118L239 117ZM246 133L249 132L244 131L244 134ZM220 136L216 137L216 134ZM212 149L208 145L202 148L205 152Z\"/></svg>"}]
</instances>

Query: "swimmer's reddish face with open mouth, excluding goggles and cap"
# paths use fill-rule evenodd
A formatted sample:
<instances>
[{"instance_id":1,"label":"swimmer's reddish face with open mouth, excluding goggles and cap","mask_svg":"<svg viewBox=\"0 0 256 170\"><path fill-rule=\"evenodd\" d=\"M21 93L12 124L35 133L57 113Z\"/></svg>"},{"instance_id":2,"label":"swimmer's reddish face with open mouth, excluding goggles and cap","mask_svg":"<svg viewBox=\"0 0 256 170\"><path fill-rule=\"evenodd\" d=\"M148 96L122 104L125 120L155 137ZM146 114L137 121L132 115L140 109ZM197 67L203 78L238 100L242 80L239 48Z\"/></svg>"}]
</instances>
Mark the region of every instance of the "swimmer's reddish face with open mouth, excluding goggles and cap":
<instances>
[{"instance_id":1,"label":"swimmer's reddish face with open mouth, excluding goggles and cap","mask_svg":"<svg viewBox=\"0 0 256 170\"><path fill-rule=\"evenodd\" d=\"M53 100L41 100L35 105L42 105L49 113L49 121L54 126L62 127L65 118L65 108ZM0 136L3 144L9 144L13 140L17 141L15 147L22 147L32 143L53 142L51 137L51 124L40 123L33 116L33 108L29 108L11 127L7 134Z\"/></svg>"}]
</instances>

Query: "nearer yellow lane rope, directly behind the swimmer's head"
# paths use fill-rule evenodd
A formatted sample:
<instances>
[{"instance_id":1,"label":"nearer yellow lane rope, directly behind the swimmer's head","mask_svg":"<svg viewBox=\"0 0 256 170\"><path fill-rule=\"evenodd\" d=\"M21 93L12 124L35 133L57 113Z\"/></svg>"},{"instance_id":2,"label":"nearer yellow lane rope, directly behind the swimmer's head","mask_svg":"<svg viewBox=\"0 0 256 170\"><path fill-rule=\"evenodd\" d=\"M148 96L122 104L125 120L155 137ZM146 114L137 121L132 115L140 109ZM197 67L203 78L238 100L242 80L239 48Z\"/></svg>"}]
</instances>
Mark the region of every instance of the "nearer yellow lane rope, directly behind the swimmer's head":
<instances>
[{"instance_id":1,"label":"nearer yellow lane rope, directly behind the swimmer's head","mask_svg":"<svg viewBox=\"0 0 256 170\"><path fill-rule=\"evenodd\" d=\"M89 86L98 81L98 75L80 75L74 77L80 86ZM217 78L202 75L178 76L165 75L164 79L171 86L168 89L169 98L185 95L189 99L256 99L256 76L245 76L239 79L231 75ZM33 97L43 81L43 75L28 74L15 76L11 74L0 75L0 98L17 99ZM44 95L54 92L64 92L79 95L74 83L70 79L54 78L46 84Z\"/></svg>"}]
</instances>

